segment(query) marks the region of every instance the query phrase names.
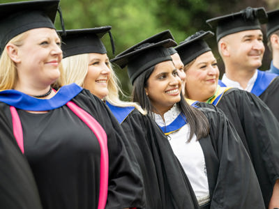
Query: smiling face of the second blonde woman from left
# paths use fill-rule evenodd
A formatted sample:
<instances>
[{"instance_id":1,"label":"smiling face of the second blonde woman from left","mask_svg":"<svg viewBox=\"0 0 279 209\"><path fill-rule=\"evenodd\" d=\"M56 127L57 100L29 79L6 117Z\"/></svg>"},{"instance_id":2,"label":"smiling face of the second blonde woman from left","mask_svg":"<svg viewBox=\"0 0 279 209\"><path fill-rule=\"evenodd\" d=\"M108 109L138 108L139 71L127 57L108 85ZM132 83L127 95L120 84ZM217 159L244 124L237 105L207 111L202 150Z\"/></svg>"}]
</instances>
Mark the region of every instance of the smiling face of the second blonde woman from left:
<instances>
[{"instance_id":1,"label":"smiling face of the second blonde woman from left","mask_svg":"<svg viewBox=\"0 0 279 209\"><path fill-rule=\"evenodd\" d=\"M90 53L88 72L83 87L103 99L109 93L107 83L110 76L110 62L107 54Z\"/></svg>"}]
</instances>

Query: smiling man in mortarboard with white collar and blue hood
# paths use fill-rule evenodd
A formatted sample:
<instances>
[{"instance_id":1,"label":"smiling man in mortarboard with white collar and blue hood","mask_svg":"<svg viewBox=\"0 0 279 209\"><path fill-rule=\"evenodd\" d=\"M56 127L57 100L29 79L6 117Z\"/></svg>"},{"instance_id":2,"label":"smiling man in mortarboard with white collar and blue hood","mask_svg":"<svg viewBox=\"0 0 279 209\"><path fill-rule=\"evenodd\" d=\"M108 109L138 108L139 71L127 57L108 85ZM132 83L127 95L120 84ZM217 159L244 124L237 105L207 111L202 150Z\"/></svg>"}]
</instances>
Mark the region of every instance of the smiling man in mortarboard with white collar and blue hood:
<instances>
[{"instance_id":1,"label":"smiling man in mortarboard with white collar and blue hood","mask_svg":"<svg viewBox=\"0 0 279 209\"><path fill-rule=\"evenodd\" d=\"M279 121L279 77L257 69L264 55L260 23L266 20L264 8L246 8L206 20L206 23L216 30L218 50L225 64L220 84L254 93Z\"/></svg>"}]
</instances>

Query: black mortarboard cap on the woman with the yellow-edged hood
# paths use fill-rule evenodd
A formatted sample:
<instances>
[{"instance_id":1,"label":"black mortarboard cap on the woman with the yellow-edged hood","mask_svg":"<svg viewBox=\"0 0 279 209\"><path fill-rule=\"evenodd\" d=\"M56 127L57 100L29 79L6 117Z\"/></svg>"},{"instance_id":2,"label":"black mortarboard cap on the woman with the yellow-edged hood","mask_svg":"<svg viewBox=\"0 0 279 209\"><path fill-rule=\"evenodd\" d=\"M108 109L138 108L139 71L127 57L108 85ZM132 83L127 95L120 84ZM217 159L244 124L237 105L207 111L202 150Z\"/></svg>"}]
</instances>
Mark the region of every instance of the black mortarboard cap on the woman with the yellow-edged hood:
<instances>
[{"instance_id":1,"label":"black mortarboard cap on the woman with the yellow-edged hood","mask_svg":"<svg viewBox=\"0 0 279 209\"><path fill-rule=\"evenodd\" d=\"M205 40L213 36L214 33L211 31L198 31L192 36L186 38L183 42L179 43L179 45L174 49L176 49L179 54L183 65L187 65L199 55L211 51L211 48L207 45Z\"/></svg>"}]
</instances>

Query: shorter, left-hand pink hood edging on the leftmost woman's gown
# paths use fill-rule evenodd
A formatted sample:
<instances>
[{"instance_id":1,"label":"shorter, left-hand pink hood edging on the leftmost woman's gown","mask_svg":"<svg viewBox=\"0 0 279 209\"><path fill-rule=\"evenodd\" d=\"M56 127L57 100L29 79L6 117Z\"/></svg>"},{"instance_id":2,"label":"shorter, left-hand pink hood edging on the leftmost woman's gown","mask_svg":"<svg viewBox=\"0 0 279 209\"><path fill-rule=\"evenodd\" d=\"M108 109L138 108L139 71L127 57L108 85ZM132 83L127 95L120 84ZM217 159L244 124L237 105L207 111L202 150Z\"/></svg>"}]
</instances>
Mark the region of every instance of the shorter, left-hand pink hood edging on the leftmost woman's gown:
<instances>
[{"instance_id":1,"label":"shorter, left-hand pink hood edging on the leftmost woman's gown","mask_svg":"<svg viewBox=\"0 0 279 209\"><path fill-rule=\"evenodd\" d=\"M13 134L15 140L17 140L17 144L20 147L20 150L22 150L22 154L24 154L22 123L20 123L20 117L17 114L17 109L13 106L10 106L10 113L12 114Z\"/></svg>"}]
</instances>

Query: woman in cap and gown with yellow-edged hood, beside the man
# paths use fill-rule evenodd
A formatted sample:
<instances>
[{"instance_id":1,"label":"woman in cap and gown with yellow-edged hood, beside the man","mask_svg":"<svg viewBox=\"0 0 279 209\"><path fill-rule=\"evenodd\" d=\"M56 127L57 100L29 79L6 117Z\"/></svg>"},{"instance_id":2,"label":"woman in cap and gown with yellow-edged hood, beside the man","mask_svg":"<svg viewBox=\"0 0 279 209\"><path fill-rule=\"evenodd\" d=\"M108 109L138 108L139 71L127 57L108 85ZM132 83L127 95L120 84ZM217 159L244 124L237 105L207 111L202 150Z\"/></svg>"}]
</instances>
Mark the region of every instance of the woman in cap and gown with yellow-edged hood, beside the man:
<instances>
[{"instance_id":1,"label":"woman in cap and gown with yellow-edged hood, beside the man","mask_svg":"<svg viewBox=\"0 0 279 209\"><path fill-rule=\"evenodd\" d=\"M189 104L197 100L195 105L199 107L214 104L223 110L250 154L266 208L269 203L271 208L278 208L279 123L257 96L238 88L218 86L217 61L206 43L213 36L211 31L199 31L175 47L185 65L186 98Z\"/></svg>"}]
</instances>

